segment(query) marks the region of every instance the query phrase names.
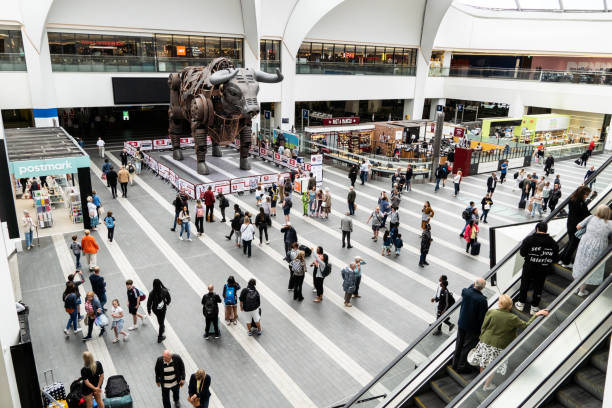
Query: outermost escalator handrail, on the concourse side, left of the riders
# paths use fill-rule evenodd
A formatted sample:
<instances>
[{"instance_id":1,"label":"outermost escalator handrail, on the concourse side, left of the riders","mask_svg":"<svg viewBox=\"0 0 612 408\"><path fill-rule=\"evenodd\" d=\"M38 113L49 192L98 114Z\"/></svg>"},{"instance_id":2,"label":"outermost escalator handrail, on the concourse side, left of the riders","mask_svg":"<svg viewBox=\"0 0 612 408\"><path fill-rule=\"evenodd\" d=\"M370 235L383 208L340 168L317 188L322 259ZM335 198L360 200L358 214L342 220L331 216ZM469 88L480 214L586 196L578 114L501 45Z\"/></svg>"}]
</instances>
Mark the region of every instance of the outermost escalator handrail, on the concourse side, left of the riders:
<instances>
[{"instance_id":1,"label":"outermost escalator handrail, on the concourse side, left of the riders","mask_svg":"<svg viewBox=\"0 0 612 408\"><path fill-rule=\"evenodd\" d=\"M588 183L590 183L591 181L595 180L595 178L597 178L597 176L599 174L601 174L601 172L606 169L610 163L612 162L612 156L608 157L608 159L601 165L599 166L599 168L597 170L595 170L595 173L593 173L591 175L591 177L589 177L585 182L584 185L587 185ZM570 194L571 195L571 194ZM543 220L544 222L548 223L549 221L551 221L553 218L555 218L563 208L565 208L569 203L569 195L568 197L560 204L557 205L557 207L551 211L551 213ZM535 227L534 227L535 229ZM565 237L566 234L564 234L563 236L561 236L559 238L559 241L561 239L563 239L563 237ZM513 249L510 250L510 252L508 252L506 254L506 256L504 256L502 258L501 261L499 261L493 268L491 268L491 270L489 271L489 273L487 275L484 276L485 281L488 280L491 276L493 276L494 274L497 273L497 271L510 259L512 259L516 253L520 250L521 248L521 244L522 242L519 242ZM489 250L491 250L489 248ZM520 275L517 277L517 279L520 279ZM516 283L513 282L512 285L514 285ZM510 286L511 287L511 286ZM385 366L385 368L383 368L369 383L367 383L364 387L362 387L359 392L357 394L355 394L351 399L348 400L348 402L344 405L344 408L349 408L350 406L352 406L355 402L357 402L358 400L361 399L361 397L368 392L368 390L374 386L376 383L378 383L378 381L389 371L391 370L400 360L402 360L408 353L410 353L425 337L429 336L430 332L432 332L433 330L436 329L436 327L438 327L440 324L442 324L442 322L449 317L452 313L455 312L455 310L461 306L461 301L462 299L457 299L457 301L455 302L455 304L453 306L451 306L450 308L448 308L446 310L445 313L443 313L434 323L432 323L427 329L425 329L424 332L422 332L419 337L416 338L416 340L414 340L413 342L411 342L408 347L406 347L406 349L404 351L402 351L397 357L395 357L393 360L391 360L391 362L389 364L387 364ZM438 353L436 355L439 356L442 353L442 351L440 351L440 353ZM431 359L432 361L435 360ZM407 386L408 384L405 384L405 386Z\"/></svg>"}]
</instances>

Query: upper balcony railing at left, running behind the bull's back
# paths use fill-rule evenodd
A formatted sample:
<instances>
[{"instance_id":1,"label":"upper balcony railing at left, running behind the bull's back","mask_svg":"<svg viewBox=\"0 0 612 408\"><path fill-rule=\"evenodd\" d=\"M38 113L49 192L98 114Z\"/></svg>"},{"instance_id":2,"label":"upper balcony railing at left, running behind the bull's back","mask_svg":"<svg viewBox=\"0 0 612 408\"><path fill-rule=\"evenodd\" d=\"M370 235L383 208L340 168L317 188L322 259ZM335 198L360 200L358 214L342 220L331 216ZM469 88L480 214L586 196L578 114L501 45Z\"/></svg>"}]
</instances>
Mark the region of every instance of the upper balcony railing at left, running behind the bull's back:
<instances>
[{"instance_id":1,"label":"upper balcony railing at left, running behind the bull's back","mask_svg":"<svg viewBox=\"0 0 612 408\"><path fill-rule=\"evenodd\" d=\"M56 72L176 72L191 65L208 65L212 58L52 54ZM237 67L241 61L233 61ZM1 64L1 62L0 62Z\"/></svg>"}]
</instances>

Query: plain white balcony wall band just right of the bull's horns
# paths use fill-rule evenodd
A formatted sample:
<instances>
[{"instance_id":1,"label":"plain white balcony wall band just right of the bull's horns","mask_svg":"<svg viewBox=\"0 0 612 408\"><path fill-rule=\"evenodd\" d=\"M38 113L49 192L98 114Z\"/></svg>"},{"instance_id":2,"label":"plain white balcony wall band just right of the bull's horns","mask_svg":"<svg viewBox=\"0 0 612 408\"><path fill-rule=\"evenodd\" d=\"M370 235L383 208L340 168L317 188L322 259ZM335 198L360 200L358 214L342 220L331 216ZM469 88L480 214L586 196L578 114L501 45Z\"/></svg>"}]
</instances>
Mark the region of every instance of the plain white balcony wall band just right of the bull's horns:
<instances>
[{"instance_id":1,"label":"plain white balcony wall band just right of the bull's horns","mask_svg":"<svg viewBox=\"0 0 612 408\"><path fill-rule=\"evenodd\" d=\"M412 99L414 77L366 75L296 75L296 101Z\"/></svg>"}]
</instances>

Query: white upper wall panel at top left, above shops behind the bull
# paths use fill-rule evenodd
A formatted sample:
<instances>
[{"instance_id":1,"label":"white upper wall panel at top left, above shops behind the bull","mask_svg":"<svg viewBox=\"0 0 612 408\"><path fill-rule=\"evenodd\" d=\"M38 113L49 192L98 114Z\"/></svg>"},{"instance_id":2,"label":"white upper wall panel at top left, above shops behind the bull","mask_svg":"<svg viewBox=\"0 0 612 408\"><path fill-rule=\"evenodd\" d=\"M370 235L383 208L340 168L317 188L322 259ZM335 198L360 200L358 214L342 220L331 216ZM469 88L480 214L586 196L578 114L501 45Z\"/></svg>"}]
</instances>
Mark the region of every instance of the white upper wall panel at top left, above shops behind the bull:
<instances>
[{"instance_id":1,"label":"white upper wall panel at top left, above shops behind the bull","mask_svg":"<svg viewBox=\"0 0 612 408\"><path fill-rule=\"evenodd\" d=\"M55 0L48 23L157 32L243 34L240 0Z\"/></svg>"}]
</instances>

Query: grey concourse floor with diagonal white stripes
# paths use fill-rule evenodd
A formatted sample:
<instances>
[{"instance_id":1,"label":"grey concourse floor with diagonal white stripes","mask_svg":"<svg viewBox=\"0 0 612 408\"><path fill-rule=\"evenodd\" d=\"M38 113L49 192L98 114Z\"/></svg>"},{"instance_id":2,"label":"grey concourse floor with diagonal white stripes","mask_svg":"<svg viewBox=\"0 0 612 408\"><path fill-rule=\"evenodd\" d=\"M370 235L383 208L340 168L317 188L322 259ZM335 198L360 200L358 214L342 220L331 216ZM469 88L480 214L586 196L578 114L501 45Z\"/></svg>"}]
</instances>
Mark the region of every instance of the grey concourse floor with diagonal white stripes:
<instances>
[{"instance_id":1,"label":"grey concourse floor with diagonal white stripes","mask_svg":"<svg viewBox=\"0 0 612 408\"><path fill-rule=\"evenodd\" d=\"M116 153L108 156L117 161ZM189 169L193 166L189 155L186 156L185 166L177 165L177 172L192 178ZM597 166L606 158L595 156L591 162ZM121 373L126 377L135 407L161 407L153 367L165 348L183 357L188 374L199 367L211 375L211 406L329 406L368 383L435 319L430 298L439 275L446 274L451 290L459 292L475 277L486 273L489 226L525 219L517 208L519 193L512 191L514 181L510 178L495 192L489 224L481 224L482 252L473 257L465 253L465 242L458 236L464 224L461 212L470 200L480 202L486 191L487 175L466 178L457 198L451 195L451 185L434 193L433 185L417 184L412 192L403 195L401 203L400 232L405 243L402 254L398 258L382 257L380 241L374 243L370 239L366 221L376 205L376 197L381 190L389 189L390 181L375 180L356 186L354 248L342 249L340 217L347 210L349 180L343 169L326 165L324 187L329 188L333 197L330 218L303 217L301 203L294 197L291 220L301 243L324 247L333 272L325 281L325 300L316 304L311 301L309 270L304 285L306 300L300 303L293 301L292 293L286 290L288 270L282 260L281 215L270 230L270 245L254 245L251 258L223 237L229 232L229 223L205 223L205 234L200 239L179 241L177 233L169 230L173 218L170 203L175 191L168 184L144 172L129 187L128 199L113 200L99 179L101 162L93 160L93 188L99 192L105 209L112 210L117 219L112 244L107 242L103 227L95 233L101 247L98 263L107 281L109 303L118 298L125 304L126 279L148 291L152 280L160 278L173 298L167 316L167 339L164 344L157 344L154 319L132 332L127 343L113 344L111 335L87 344L75 337L64 338L61 329L66 314L60 298L65 276L73 268L69 236L41 239L40 247L19 255L23 300L31 307L30 325L39 372L52 368L56 378L68 385L79 376L80 353L92 351L107 375ZM236 177L237 163L237 153L229 149L224 151L223 158L208 161L212 172L226 177ZM262 161L253 160L252 164L253 174L278 171ZM564 195L581 182L586 171L571 161L558 163L555 168L561 174ZM537 166L529 170L542 172ZM598 180L610 181L603 177ZM434 242L428 258L431 265L421 269L417 265L418 234L420 209L425 200L435 210ZM255 211L252 195L230 197L230 201ZM220 214L215 216L220 219ZM340 269L357 255L367 261L360 290L362 298L354 301L353 308L345 308ZM221 291L230 274L242 286L251 277L257 279L264 332L260 337L248 337L242 320L239 325L228 327L221 318L222 337L206 341L202 338L201 297L211 283ZM88 283L84 286L90 287ZM186 389L182 391L183 403L185 398Z\"/></svg>"}]
</instances>

